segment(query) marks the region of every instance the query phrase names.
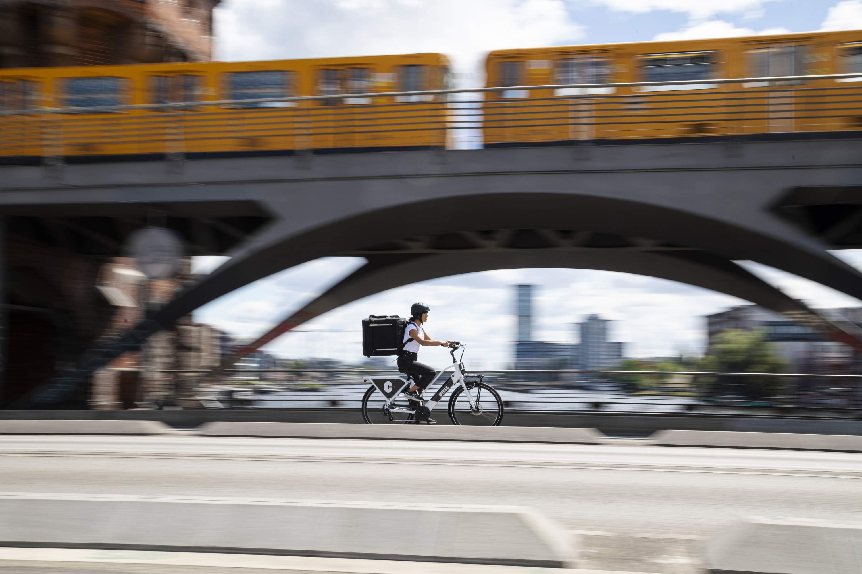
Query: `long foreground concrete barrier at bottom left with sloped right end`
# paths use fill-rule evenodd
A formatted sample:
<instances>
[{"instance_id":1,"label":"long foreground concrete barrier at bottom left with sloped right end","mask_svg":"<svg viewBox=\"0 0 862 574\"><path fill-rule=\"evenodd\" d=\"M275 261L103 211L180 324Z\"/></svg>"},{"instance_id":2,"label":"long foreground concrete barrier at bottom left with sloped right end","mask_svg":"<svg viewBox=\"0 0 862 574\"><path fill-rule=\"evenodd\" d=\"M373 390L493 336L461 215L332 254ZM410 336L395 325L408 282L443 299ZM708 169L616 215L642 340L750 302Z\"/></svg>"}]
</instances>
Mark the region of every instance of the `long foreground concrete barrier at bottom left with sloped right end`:
<instances>
[{"instance_id":1,"label":"long foreground concrete barrier at bottom left with sloped right end","mask_svg":"<svg viewBox=\"0 0 862 574\"><path fill-rule=\"evenodd\" d=\"M0 495L0 546L562 568L570 565L571 542L564 529L522 507Z\"/></svg>"}]
</instances>

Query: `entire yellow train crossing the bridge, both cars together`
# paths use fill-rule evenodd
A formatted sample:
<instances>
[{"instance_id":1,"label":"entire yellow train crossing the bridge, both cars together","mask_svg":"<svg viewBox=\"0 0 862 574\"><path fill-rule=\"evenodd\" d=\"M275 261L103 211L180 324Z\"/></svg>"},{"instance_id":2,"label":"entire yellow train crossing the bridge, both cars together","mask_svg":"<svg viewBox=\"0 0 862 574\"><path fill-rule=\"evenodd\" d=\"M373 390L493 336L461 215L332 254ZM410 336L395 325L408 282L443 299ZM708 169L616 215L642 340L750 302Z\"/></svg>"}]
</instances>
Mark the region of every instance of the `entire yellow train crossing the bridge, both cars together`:
<instances>
[{"instance_id":1,"label":"entire yellow train crossing the bridge, both cars together","mask_svg":"<svg viewBox=\"0 0 862 574\"><path fill-rule=\"evenodd\" d=\"M449 60L440 53L0 70L0 159L437 148L479 134L485 146L556 145L862 127L862 31L498 50L486 69L488 88L525 88L492 89L466 104L458 94L324 97L448 89ZM720 81L841 73L859 76ZM555 87L644 82L665 84ZM254 102L293 96L320 99ZM161 104L171 105L124 108ZM96 110L103 107L115 108Z\"/></svg>"}]
</instances>

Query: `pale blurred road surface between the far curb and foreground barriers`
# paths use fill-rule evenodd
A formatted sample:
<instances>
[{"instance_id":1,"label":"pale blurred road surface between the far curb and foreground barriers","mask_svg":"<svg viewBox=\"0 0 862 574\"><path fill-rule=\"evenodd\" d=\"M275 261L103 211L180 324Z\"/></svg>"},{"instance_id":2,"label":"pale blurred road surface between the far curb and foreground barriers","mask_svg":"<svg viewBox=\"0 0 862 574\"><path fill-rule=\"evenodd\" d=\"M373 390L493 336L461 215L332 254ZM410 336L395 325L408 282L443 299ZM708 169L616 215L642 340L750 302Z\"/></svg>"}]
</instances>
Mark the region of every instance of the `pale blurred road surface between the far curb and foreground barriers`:
<instances>
[{"instance_id":1,"label":"pale blurred road surface between the far curb and foreground barriers","mask_svg":"<svg viewBox=\"0 0 862 574\"><path fill-rule=\"evenodd\" d=\"M169 436L0 436L0 491L531 506L581 567L693 572L745 515L860 522L862 454Z\"/></svg>"}]
</instances>

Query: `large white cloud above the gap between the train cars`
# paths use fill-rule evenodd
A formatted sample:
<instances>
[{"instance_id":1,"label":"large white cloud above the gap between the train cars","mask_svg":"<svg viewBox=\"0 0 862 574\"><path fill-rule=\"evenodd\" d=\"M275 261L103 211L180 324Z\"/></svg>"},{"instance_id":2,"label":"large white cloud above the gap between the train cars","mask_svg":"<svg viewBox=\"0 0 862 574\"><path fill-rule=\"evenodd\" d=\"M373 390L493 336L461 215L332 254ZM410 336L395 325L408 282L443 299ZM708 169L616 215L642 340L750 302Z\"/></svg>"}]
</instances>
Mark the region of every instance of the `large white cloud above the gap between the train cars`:
<instances>
[{"instance_id":1,"label":"large white cloud above the gap between the train cars","mask_svg":"<svg viewBox=\"0 0 862 574\"><path fill-rule=\"evenodd\" d=\"M215 15L224 60L444 52L477 71L484 52L582 35L564 0L228 0Z\"/></svg>"}]
</instances>

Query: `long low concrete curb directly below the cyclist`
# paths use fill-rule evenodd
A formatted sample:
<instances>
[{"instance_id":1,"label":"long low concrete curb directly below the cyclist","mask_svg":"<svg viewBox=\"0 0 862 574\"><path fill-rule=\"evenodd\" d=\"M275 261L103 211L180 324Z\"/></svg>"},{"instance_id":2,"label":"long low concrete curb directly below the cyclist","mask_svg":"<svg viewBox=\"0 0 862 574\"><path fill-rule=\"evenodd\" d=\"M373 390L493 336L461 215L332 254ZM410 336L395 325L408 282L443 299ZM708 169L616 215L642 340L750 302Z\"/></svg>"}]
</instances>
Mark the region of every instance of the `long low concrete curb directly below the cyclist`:
<instances>
[{"instance_id":1,"label":"long low concrete curb directly below the cyclist","mask_svg":"<svg viewBox=\"0 0 862 574\"><path fill-rule=\"evenodd\" d=\"M410 441L499 441L600 444L596 429L546 427L455 427L337 423L204 423L203 436L278 436L290 438L394 439Z\"/></svg>"}]
</instances>

